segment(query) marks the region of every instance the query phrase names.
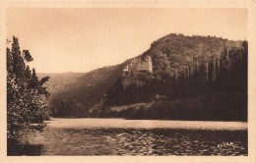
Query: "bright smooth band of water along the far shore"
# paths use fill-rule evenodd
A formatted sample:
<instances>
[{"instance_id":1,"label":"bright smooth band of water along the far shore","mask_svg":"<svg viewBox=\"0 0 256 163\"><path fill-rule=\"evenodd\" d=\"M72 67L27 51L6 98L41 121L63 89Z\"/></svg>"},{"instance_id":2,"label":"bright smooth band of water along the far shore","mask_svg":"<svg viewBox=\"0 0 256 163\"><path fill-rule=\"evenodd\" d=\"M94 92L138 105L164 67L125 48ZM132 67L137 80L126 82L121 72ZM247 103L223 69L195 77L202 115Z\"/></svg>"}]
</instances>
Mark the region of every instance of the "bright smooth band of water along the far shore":
<instances>
[{"instance_id":1,"label":"bright smooth band of water along the far shore","mask_svg":"<svg viewBox=\"0 0 256 163\"><path fill-rule=\"evenodd\" d=\"M212 130L212 131L245 131L247 122L223 121L176 121L176 120L126 120L99 118L51 118L45 121L49 128L121 128L121 129L176 129L176 130Z\"/></svg>"}]
</instances>

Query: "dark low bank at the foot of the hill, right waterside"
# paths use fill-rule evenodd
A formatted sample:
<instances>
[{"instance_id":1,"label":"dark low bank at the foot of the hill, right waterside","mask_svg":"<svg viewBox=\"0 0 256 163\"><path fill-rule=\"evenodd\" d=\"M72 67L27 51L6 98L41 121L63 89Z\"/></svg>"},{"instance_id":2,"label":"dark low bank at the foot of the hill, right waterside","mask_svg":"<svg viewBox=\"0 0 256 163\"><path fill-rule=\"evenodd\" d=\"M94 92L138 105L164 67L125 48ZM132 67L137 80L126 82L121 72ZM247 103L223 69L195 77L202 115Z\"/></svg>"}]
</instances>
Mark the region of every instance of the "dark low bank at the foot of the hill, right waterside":
<instances>
[{"instance_id":1,"label":"dark low bank at the foot of the hill, right waterside","mask_svg":"<svg viewBox=\"0 0 256 163\"><path fill-rule=\"evenodd\" d=\"M93 117L126 119L247 121L247 95L239 92L105 108Z\"/></svg>"}]
</instances>

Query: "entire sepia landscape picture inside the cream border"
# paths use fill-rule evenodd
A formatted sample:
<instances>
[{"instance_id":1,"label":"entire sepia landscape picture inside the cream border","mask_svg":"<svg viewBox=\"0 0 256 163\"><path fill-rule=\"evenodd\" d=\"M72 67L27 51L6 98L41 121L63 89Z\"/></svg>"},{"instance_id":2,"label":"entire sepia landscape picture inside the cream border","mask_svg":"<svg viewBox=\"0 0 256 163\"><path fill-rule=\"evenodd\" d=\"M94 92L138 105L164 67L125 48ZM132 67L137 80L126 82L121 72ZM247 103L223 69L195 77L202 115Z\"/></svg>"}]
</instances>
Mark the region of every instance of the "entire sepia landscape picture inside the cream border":
<instances>
[{"instance_id":1,"label":"entire sepia landscape picture inside the cream border","mask_svg":"<svg viewBox=\"0 0 256 163\"><path fill-rule=\"evenodd\" d=\"M7 156L248 156L247 8L5 16Z\"/></svg>"}]
</instances>

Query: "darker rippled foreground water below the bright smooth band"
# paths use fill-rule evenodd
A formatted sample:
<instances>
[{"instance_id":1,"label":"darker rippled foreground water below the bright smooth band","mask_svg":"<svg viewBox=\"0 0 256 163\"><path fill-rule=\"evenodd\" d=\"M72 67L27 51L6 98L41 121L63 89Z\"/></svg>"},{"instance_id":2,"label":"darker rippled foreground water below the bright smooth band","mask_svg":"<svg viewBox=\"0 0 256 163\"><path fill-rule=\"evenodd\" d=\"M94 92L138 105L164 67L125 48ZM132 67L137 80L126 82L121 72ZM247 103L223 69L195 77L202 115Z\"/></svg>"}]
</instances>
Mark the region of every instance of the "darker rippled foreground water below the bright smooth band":
<instances>
[{"instance_id":1,"label":"darker rippled foreground water below the bright smooth band","mask_svg":"<svg viewBox=\"0 0 256 163\"><path fill-rule=\"evenodd\" d=\"M24 141L41 155L247 155L247 130L52 128ZM233 147L218 148L232 142ZM30 155L30 154L29 154Z\"/></svg>"}]
</instances>

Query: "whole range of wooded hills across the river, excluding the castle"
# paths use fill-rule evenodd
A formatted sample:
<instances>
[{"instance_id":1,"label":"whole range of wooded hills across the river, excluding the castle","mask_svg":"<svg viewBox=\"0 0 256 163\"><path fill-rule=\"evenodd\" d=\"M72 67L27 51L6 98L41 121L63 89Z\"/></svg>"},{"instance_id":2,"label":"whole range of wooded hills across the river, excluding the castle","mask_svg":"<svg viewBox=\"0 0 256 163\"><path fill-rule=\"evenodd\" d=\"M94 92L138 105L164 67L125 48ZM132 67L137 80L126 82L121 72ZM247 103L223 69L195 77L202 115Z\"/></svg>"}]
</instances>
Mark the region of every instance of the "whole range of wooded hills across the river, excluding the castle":
<instances>
[{"instance_id":1,"label":"whole range of wooded hills across the river, excluding the castle","mask_svg":"<svg viewBox=\"0 0 256 163\"><path fill-rule=\"evenodd\" d=\"M153 74L142 73L125 89L121 84L121 73L127 61L87 74L73 74L70 76L73 81L59 81L57 86L60 89L53 91L50 98L52 115L88 117L92 116L88 110L95 108L97 111L94 116L113 116L104 114L105 108L152 101L157 103L154 105L155 109L158 109L157 106L164 108L160 103L165 101L165 104L170 102L166 105L173 110L181 106L173 105L171 101L193 102L191 99L197 98L197 103L211 100L210 103L213 104L195 105L198 108L222 108L228 112L231 107L239 107L240 110L232 109L238 109L237 114L242 113L244 120L247 114L247 49L247 41L168 34L153 42L149 50L138 56L142 59L147 55L152 57ZM63 77L65 79L65 75ZM49 81L50 92L56 87L52 86L54 83L56 82ZM221 96L223 100L220 99ZM206 97L208 98L205 99ZM232 100L240 101L240 104L233 106L235 102ZM145 118L145 114L137 117ZM148 115L146 118L158 117Z\"/></svg>"}]
</instances>

